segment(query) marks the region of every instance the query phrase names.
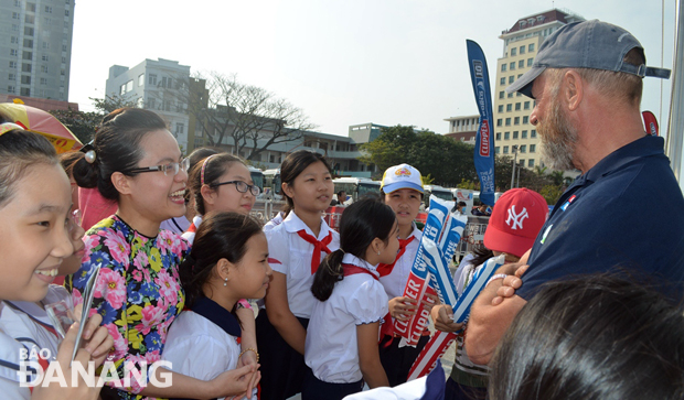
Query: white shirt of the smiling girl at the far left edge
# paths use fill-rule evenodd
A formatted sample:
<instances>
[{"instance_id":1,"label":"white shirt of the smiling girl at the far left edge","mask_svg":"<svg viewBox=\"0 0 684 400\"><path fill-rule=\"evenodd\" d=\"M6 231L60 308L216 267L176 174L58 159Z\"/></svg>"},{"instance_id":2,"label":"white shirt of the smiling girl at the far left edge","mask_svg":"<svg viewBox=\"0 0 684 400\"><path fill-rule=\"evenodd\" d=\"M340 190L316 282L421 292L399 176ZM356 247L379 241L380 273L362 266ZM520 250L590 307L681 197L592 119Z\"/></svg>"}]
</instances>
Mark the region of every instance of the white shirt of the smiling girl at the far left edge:
<instances>
[{"instance_id":1,"label":"white shirt of the smiling girl at the far left edge","mask_svg":"<svg viewBox=\"0 0 684 400\"><path fill-rule=\"evenodd\" d=\"M25 325L21 314L0 302L0 393L3 399L31 399L31 390L20 387L20 364L26 361L22 359L21 352L35 354L41 345L35 339L35 327Z\"/></svg>"}]
</instances>

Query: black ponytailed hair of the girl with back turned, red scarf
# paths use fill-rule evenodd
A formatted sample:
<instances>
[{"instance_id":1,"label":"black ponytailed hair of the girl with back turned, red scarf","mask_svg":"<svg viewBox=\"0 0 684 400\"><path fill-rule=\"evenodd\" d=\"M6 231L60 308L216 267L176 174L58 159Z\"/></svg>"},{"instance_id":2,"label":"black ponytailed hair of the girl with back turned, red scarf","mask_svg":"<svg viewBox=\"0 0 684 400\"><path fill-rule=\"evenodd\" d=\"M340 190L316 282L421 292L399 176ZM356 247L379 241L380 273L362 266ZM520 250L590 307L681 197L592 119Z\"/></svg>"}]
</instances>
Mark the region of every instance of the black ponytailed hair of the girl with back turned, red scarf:
<instances>
[{"instance_id":1,"label":"black ponytailed hair of the girl with back turned, red scarf","mask_svg":"<svg viewBox=\"0 0 684 400\"><path fill-rule=\"evenodd\" d=\"M321 261L311 284L313 296L322 302L328 300L335 283L344 279L344 253L364 260L373 239L380 238L387 244L395 221L392 208L376 198L364 197L346 207L340 221L340 249Z\"/></svg>"}]
</instances>

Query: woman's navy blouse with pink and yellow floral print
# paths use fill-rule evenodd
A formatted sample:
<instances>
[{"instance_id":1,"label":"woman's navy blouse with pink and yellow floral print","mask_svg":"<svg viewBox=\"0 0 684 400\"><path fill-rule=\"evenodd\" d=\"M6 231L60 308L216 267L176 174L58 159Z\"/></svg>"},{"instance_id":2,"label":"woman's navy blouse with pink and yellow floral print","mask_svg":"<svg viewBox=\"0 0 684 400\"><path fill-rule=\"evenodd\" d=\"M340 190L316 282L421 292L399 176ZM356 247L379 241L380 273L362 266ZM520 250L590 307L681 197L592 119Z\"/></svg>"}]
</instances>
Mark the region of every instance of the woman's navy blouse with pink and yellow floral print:
<instances>
[{"instance_id":1,"label":"woman's navy blouse with pink and yellow floral print","mask_svg":"<svg viewBox=\"0 0 684 400\"><path fill-rule=\"evenodd\" d=\"M81 269L66 280L74 304L83 301L92 267L101 264L90 314L101 314L103 326L114 337L107 361L114 361L119 379L125 377L125 366L130 371L135 365L140 374L141 361L149 369L160 359L167 331L183 310L178 267L190 246L169 230L160 230L156 238L143 236L116 215L90 228L83 240L86 252ZM143 387L132 377L130 385L130 392L119 390L119 397L142 398L135 393Z\"/></svg>"}]
</instances>

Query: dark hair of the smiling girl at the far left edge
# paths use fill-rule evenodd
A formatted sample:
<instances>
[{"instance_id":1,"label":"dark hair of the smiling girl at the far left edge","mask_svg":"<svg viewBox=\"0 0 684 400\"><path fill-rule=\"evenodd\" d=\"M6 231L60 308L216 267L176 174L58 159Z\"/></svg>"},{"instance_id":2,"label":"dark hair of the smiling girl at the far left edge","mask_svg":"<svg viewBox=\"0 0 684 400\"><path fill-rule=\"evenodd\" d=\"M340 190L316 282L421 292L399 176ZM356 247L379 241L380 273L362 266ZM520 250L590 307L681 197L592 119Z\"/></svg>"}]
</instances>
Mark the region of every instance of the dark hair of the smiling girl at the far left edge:
<instances>
[{"instance_id":1,"label":"dark hair of the smiling girl at the far left edge","mask_svg":"<svg viewBox=\"0 0 684 400\"><path fill-rule=\"evenodd\" d=\"M21 129L0 136L0 206L14 195L14 183L38 163L57 164L57 153L47 139Z\"/></svg>"}]
</instances>

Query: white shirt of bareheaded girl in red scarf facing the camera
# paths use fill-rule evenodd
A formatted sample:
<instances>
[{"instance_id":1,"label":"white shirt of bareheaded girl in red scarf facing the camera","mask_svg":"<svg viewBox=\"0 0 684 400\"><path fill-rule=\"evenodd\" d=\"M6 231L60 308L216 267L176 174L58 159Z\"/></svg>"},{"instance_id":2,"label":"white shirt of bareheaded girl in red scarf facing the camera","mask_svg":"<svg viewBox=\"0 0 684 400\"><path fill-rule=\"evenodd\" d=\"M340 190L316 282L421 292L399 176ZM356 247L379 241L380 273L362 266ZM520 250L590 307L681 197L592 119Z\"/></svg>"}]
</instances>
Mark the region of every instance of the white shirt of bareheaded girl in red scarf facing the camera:
<instances>
[{"instance_id":1,"label":"white shirt of bareheaded girl in red scarf facing the camera","mask_svg":"<svg viewBox=\"0 0 684 400\"><path fill-rule=\"evenodd\" d=\"M316 237L311 229L304 224L295 212L290 212L282 224L271 230L266 231L268 240L268 262L270 268L284 273L287 277L287 300L290 311L295 316L309 318L316 298L311 293L311 255L313 245L302 239L297 231L304 229L307 234ZM317 239L324 239L332 233L332 241L328 245L330 251L340 248L340 234L330 229L325 220L321 217L321 231ZM328 256L321 251L321 261Z\"/></svg>"}]
</instances>

